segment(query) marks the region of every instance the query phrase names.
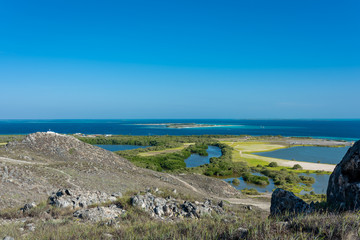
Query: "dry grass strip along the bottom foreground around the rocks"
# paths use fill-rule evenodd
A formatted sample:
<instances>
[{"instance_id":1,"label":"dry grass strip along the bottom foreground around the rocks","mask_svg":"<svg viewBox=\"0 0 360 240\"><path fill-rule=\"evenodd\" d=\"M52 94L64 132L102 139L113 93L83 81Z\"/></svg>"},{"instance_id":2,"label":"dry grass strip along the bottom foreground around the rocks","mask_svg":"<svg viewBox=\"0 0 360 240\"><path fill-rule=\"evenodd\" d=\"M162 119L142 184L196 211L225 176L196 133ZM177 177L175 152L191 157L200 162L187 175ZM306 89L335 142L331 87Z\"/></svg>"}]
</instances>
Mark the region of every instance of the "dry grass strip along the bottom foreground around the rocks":
<instances>
[{"instance_id":1,"label":"dry grass strip along the bottom foreground around the rocks","mask_svg":"<svg viewBox=\"0 0 360 240\"><path fill-rule=\"evenodd\" d=\"M358 213L314 213L297 216L288 222L267 218L264 212L242 206L227 206L227 215L207 216L199 220L185 219L163 222L152 219L139 208L127 204L119 224L82 222L64 212L56 219L42 221L41 217L25 223L0 226L0 238L10 235L15 239L239 239L237 229L248 229L246 239L358 239ZM38 210L37 210L38 211ZM35 231L26 230L33 222ZM19 228L25 231L19 231Z\"/></svg>"}]
</instances>

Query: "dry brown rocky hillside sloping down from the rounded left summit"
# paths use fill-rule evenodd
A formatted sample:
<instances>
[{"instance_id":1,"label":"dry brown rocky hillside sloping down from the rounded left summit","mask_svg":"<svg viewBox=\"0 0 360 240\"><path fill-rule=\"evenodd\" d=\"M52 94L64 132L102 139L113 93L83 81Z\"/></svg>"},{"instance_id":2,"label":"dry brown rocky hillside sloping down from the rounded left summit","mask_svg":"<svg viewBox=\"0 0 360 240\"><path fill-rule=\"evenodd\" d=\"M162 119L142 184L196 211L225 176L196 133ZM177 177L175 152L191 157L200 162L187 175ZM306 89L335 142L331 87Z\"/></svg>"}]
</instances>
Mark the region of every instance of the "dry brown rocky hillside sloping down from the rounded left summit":
<instances>
[{"instance_id":1,"label":"dry brown rocky hillside sloping down from the rounded left summit","mask_svg":"<svg viewBox=\"0 0 360 240\"><path fill-rule=\"evenodd\" d=\"M0 147L0 208L39 202L59 188L114 192L160 188L193 198L236 197L224 181L135 167L112 152L56 133L34 133Z\"/></svg>"}]
</instances>

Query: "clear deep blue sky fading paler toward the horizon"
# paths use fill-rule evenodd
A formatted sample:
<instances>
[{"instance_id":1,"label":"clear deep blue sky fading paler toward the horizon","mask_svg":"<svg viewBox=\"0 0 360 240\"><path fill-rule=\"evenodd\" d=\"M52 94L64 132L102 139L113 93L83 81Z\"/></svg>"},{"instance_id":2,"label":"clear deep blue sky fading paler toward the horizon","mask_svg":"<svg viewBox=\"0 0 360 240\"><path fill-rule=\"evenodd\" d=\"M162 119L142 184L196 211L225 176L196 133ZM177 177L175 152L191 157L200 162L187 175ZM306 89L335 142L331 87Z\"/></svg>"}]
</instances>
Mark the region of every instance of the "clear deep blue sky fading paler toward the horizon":
<instances>
[{"instance_id":1,"label":"clear deep blue sky fading paler toward the horizon","mask_svg":"<svg viewBox=\"0 0 360 240\"><path fill-rule=\"evenodd\" d=\"M0 119L360 118L359 11L0 0Z\"/></svg>"}]
</instances>

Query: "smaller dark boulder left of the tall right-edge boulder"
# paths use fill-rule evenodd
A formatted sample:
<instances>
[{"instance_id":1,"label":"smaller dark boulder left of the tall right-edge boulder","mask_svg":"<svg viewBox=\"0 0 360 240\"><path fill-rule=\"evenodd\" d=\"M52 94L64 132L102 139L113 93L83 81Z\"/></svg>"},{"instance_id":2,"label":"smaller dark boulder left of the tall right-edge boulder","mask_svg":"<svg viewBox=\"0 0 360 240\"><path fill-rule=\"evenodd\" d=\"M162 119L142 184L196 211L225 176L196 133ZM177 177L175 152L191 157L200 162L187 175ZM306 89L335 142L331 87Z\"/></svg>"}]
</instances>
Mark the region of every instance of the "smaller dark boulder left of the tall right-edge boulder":
<instances>
[{"instance_id":1,"label":"smaller dark boulder left of the tall right-edge boulder","mask_svg":"<svg viewBox=\"0 0 360 240\"><path fill-rule=\"evenodd\" d=\"M292 192L277 188L271 196L270 215L296 215L312 212L312 207Z\"/></svg>"}]
</instances>

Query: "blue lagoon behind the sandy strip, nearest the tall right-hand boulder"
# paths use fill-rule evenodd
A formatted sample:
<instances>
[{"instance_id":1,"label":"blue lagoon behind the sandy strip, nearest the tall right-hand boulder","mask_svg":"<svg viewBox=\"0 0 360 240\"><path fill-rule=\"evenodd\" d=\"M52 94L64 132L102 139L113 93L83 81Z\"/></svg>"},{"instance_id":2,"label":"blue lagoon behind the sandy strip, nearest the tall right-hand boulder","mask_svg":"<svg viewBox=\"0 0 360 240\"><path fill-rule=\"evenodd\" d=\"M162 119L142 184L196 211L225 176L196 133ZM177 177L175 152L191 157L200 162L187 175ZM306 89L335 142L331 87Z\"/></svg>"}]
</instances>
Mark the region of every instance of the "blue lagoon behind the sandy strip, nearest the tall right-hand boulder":
<instances>
[{"instance_id":1,"label":"blue lagoon behind the sandy strip, nearest the tall right-hand boulder","mask_svg":"<svg viewBox=\"0 0 360 240\"><path fill-rule=\"evenodd\" d=\"M256 155L303 162L338 164L350 147L291 147Z\"/></svg>"}]
</instances>

